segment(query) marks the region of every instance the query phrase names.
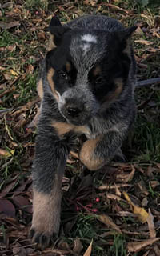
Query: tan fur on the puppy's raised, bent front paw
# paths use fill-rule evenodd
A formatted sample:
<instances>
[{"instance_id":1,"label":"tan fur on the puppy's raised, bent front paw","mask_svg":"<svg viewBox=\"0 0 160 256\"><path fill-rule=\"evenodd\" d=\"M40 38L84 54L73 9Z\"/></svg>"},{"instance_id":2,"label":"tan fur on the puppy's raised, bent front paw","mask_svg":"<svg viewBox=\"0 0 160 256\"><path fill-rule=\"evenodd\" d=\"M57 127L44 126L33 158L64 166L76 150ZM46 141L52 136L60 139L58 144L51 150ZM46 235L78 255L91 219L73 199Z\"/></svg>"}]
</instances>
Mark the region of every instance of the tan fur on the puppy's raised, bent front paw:
<instances>
[{"instance_id":1,"label":"tan fur on the puppy's raised, bent front paw","mask_svg":"<svg viewBox=\"0 0 160 256\"><path fill-rule=\"evenodd\" d=\"M98 170L100 169L104 163L105 159L98 158L94 154L94 150L98 145L98 142L102 139L102 136L98 136L98 138L90 139L83 143L82 149L80 151L79 157L81 162L89 169L89 170Z\"/></svg>"}]
</instances>

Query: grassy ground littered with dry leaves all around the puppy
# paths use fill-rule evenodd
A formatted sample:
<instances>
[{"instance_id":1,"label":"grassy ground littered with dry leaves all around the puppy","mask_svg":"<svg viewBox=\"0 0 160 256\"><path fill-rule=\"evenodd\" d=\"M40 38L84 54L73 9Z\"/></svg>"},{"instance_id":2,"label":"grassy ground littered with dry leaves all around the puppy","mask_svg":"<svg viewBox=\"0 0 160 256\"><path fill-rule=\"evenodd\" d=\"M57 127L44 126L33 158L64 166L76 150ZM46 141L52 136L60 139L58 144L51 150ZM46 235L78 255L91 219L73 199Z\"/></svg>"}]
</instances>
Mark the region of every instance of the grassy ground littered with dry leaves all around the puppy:
<instances>
[{"instance_id":1,"label":"grassy ground littered with dry leaves all around the puppy","mask_svg":"<svg viewBox=\"0 0 160 256\"><path fill-rule=\"evenodd\" d=\"M3 4L6 2L4 1ZM56 2L55 4L46 0L20 0L14 1L14 8L2 5L1 22L20 22L20 26L0 32L2 57L0 61L0 110L5 111L0 112L0 149L9 152L8 156L0 154L2 167L0 189L2 193L5 190L8 191L4 197L2 195L2 198L13 203L16 209L14 222L17 223L17 228L15 228L15 223L14 226L10 224L11 219L10 223L6 222L7 218L2 218L0 215L2 221L2 233L0 233L2 247L0 250L3 251L3 254L13 254L14 245L18 245L18 248L29 246L34 250L34 246L30 245L30 240L27 240L26 233L22 236L26 242L22 242L18 233L18 230L25 230L30 226L31 213L18 208L13 200L18 189L21 188L19 195L27 198L29 203L32 201L30 168L34 158L36 130L27 130L26 128L38 110L38 102L35 101L30 107L26 107L26 103L37 98L38 68L46 53L46 44L49 38L46 27L51 16L56 14L62 22L67 22L82 14L107 14L118 18L125 26L132 26L135 22L142 23L143 30L139 30L139 33L133 37L138 62L138 80L160 77L160 42L155 34L158 33L155 18L160 14L158 3L149 1L144 7L144 1L117 0L111 2L111 6L107 6L110 1L101 1L101 4L90 2ZM146 40L152 44L145 45L136 40ZM146 210L150 208L154 214L154 222L158 222L158 204L160 203L160 186L158 184L160 180L158 167L160 162L159 84L138 87L135 97L138 115L131 146L127 146L125 150L128 158L126 164L113 164L98 173L85 170L81 163L73 158L71 158L72 162L68 163L66 177L70 182L63 184L62 200L64 244L58 248L68 250L67 246L69 246L73 251L74 241L79 238L83 246L82 252L79 254L82 255L94 238L92 256L141 256L145 255L147 250L154 255L154 245L146 246L138 252L128 251L128 242L145 240L150 238L150 234L147 229L148 234L139 231L146 224L138 222L122 192L126 191L130 194L130 198L136 205L143 206ZM134 177L128 182L124 182L124 178L127 178L133 166ZM106 190L99 190L98 187L104 184L110 187ZM115 198L118 196L115 184L119 186L120 199ZM125 184L127 186L123 186ZM140 189L141 186L145 189ZM96 198L99 198L99 202L96 202ZM144 199L148 202L143 205ZM88 206L90 203L91 207ZM120 213L123 213L124 216ZM122 234L118 234L113 226L99 222L98 216L101 214L110 216L111 220L122 230ZM19 216L21 222L18 220ZM12 237L10 234L13 230L14 236ZM127 234L127 231L130 231L130 234ZM137 234L134 234L134 231ZM157 227L157 237L159 235ZM16 241L19 243L17 244ZM158 242L156 246L160 250ZM38 253L38 250L34 250L33 255Z\"/></svg>"}]
</instances>

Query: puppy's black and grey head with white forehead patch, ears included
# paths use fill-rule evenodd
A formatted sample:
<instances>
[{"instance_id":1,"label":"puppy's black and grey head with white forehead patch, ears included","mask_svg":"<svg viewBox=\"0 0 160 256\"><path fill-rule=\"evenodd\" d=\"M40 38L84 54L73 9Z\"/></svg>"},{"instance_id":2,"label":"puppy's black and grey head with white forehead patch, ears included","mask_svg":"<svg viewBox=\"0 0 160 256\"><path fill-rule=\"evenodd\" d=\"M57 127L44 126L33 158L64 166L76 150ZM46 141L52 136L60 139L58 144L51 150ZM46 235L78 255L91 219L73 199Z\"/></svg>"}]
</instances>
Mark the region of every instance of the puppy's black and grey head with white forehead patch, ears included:
<instances>
[{"instance_id":1,"label":"puppy's black and grey head with white forehead patch, ears included","mask_svg":"<svg viewBox=\"0 0 160 256\"><path fill-rule=\"evenodd\" d=\"M67 122L86 124L122 94L130 72L129 38L135 29L72 30L52 18L47 78Z\"/></svg>"}]
</instances>

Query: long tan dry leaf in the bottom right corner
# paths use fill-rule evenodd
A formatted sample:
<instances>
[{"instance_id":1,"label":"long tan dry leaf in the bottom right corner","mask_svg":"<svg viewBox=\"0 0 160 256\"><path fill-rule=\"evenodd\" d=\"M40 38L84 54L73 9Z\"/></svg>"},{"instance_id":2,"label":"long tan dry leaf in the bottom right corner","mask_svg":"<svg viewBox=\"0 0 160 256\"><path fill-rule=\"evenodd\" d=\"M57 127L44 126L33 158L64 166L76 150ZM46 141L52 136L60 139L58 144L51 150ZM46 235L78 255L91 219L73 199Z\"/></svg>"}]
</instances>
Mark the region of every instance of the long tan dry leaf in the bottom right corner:
<instances>
[{"instance_id":1,"label":"long tan dry leaf in the bottom right corner","mask_svg":"<svg viewBox=\"0 0 160 256\"><path fill-rule=\"evenodd\" d=\"M150 238L142 242L128 242L127 250L129 250L129 252L138 252L139 250L142 250L146 246L152 245L154 242L158 241L159 239L160 238Z\"/></svg>"}]
</instances>

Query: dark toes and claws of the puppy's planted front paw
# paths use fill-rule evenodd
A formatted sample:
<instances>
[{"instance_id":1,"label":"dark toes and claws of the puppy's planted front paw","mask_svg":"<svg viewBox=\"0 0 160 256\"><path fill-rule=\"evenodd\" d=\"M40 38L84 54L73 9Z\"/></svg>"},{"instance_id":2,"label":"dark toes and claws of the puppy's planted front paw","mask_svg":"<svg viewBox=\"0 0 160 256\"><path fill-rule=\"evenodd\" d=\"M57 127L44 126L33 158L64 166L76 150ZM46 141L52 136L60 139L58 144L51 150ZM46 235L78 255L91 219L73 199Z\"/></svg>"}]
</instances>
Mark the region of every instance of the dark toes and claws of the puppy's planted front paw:
<instances>
[{"instance_id":1,"label":"dark toes and claws of the puppy's planted front paw","mask_svg":"<svg viewBox=\"0 0 160 256\"><path fill-rule=\"evenodd\" d=\"M30 238L33 242L35 242L42 250L46 247L51 246L55 239L58 238L58 233L47 234L47 233L39 233L34 227L30 229Z\"/></svg>"}]
</instances>

